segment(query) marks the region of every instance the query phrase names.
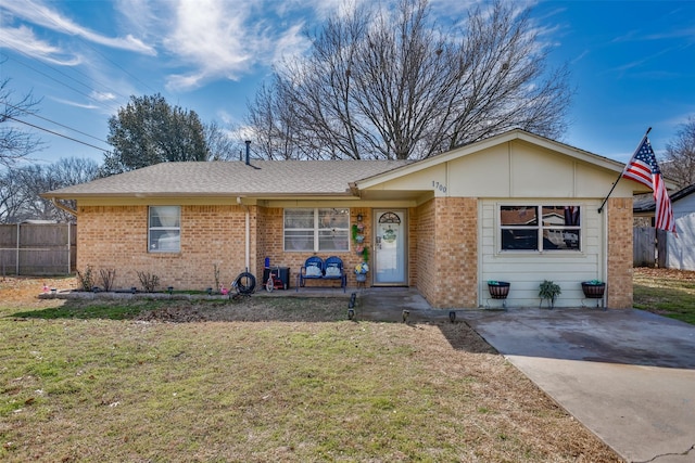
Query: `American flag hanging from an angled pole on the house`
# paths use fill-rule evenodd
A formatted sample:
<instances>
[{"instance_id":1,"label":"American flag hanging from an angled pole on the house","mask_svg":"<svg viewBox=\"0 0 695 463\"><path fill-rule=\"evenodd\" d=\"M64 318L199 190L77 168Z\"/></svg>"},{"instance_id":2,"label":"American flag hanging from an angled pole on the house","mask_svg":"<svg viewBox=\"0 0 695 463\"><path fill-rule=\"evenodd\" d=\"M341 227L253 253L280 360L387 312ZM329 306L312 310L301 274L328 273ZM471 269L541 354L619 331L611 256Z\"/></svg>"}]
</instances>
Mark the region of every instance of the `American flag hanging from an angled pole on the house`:
<instances>
[{"instance_id":1,"label":"American flag hanging from an angled pole on the house","mask_svg":"<svg viewBox=\"0 0 695 463\"><path fill-rule=\"evenodd\" d=\"M677 234L671 200L668 191L666 191L661 170L656 162L654 150L652 150L652 143L649 143L649 139L646 136L642 139L640 147L634 152L632 159L622 171L622 177L636 180L654 191L654 201L656 202L655 227Z\"/></svg>"}]
</instances>

